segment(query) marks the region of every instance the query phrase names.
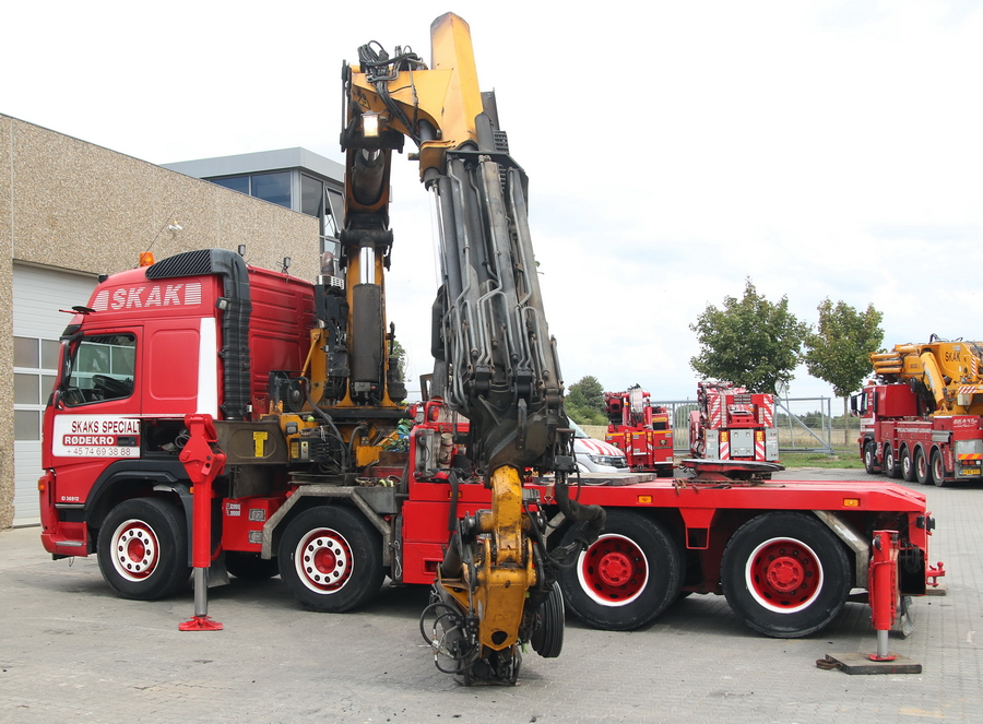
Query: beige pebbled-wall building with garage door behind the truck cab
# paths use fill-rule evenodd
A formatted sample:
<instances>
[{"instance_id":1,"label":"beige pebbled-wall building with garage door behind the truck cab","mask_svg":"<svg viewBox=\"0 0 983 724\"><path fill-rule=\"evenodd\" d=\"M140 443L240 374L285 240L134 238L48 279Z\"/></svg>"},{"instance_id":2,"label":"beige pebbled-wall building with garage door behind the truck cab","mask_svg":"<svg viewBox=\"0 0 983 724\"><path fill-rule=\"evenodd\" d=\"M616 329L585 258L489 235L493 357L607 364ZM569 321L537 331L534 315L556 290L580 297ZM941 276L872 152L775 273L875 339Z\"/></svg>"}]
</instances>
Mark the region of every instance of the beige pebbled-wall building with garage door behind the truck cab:
<instances>
[{"instance_id":1,"label":"beige pebbled-wall building with garage door behind the truck cab","mask_svg":"<svg viewBox=\"0 0 983 724\"><path fill-rule=\"evenodd\" d=\"M147 249L159 260L245 245L247 262L289 257L313 281L322 232L323 217L0 115L0 529L37 521L40 416L71 319L59 309Z\"/></svg>"}]
</instances>

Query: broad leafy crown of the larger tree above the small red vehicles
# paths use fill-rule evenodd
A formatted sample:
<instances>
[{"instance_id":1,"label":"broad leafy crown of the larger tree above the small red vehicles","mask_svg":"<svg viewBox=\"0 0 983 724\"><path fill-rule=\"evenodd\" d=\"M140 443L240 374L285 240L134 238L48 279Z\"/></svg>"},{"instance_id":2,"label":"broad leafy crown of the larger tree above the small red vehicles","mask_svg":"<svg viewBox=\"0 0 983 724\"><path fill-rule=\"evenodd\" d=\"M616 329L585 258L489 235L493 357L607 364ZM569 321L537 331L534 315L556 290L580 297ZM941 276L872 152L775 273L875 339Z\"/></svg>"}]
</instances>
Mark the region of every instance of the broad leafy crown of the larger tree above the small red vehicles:
<instances>
[{"instance_id":1,"label":"broad leafy crown of the larger tree above the small red vehicles","mask_svg":"<svg viewBox=\"0 0 983 724\"><path fill-rule=\"evenodd\" d=\"M689 365L704 378L726 380L750 392L774 392L798 364L808 327L789 311L789 298L773 304L748 277L744 297L725 297L722 309L708 305L689 329L700 354Z\"/></svg>"}]
</instances>

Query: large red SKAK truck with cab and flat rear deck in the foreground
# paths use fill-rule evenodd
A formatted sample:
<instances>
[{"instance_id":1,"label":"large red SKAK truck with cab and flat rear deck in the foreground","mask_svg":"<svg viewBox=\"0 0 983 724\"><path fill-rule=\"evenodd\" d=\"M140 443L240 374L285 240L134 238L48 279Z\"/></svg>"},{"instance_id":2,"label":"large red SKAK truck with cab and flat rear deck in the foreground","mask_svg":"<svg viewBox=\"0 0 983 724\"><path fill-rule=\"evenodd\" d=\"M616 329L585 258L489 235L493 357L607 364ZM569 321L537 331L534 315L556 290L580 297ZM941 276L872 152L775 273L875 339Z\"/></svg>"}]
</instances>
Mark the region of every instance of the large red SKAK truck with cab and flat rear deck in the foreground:
<instances>
[{"instance_id":1,"label":"large red SKAK truck with cab and flat rear deck in the foreground","mask_svg":"<svg viewBox=\"0 0 983 724\"><path fill-rule=\"evenodd\" d=\"M213 582L223 568L241 578L279 573L300 602L329 612L368 601L387 575L431 584L455 522L492 497L453 474L469 426L437 399L400 407L376 460L356 474L328 470L347 452L325 420L313 413L307 428L281 424L283 410L300 405L286 371L304 369L311 354L321 293L221 250L104 280L66 329L45 413L46 549L98 554L125 597L181 591L196 546L181 451L193 439L188 416L206 413L215 450L227 456L209 502ZM411 414L401 437L399 419ZM684 592L723 593L751 628L805 636L836 617L851 589L868 587L873 531L881 529L899 538L898 595L923 594L941 574L928 565L925 498L900 486L713 474L618 483L579 490L607 521L559 578L567 607L591 626L632 629ZM528 475L522 487L531 514L554 526L536 555L581 535L559 514L548 478Z\"/></svg>"}]
</instances>

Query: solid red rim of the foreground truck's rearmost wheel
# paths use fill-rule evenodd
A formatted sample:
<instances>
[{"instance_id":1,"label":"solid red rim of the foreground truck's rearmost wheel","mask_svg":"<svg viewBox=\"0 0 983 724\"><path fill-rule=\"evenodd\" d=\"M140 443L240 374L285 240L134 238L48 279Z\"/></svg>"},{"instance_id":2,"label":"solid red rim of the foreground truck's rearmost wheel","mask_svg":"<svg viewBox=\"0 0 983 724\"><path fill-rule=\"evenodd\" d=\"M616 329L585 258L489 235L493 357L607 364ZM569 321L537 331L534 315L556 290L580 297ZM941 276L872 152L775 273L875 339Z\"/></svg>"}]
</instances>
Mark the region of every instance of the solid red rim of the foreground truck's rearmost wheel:
<instances>
[{"instance_id":1,"label":"solid red rim of the foreground truck's rearmost wheel","mask_svg":"<svg viewBox=\"0 0 983 724\"><path fill-rule=\"evenodd\" d=\"M822 590L822 565L802 541L771 538L755 548L746 568L747 589L765 608L794 614Z\"/></svg>"}]
</instances>

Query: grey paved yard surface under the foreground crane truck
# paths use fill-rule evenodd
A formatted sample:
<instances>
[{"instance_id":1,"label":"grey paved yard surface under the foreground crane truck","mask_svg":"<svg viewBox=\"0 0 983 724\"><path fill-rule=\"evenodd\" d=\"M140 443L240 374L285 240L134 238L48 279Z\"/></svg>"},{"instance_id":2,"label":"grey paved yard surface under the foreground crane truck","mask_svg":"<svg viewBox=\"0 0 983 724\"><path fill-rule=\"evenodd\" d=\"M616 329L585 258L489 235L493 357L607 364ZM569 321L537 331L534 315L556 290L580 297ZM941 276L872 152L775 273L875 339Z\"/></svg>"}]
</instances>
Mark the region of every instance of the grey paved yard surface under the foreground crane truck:
<instances>
[{"instance_id":1,"label":"grey paved yard surface under the foreground crane truck","mask_svg":"<svg viewBox=\"0 0 983 724\"><path fill-rule=\"evenodd\" d=\"M914 601L914 633L890 634L917 675L816 667L831 652L875 649L861 604L819 634L777 640L746 629L722 597L689 596L631 632L570 618L562 654L530 651L519 686L465 688L423 644L423 587L329 615L301 609L279 579L233 579L210 592L225 629L181 632L190 589L122 601L94 558L52 561L38 529L0 531L0 722L979 722L983 486L913 487L938 522L932 559L949 571L946 596Z\"/></svg>"}]
</instances>

